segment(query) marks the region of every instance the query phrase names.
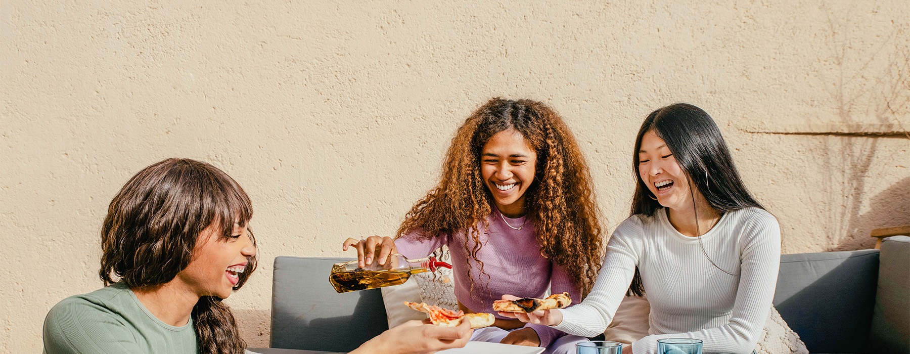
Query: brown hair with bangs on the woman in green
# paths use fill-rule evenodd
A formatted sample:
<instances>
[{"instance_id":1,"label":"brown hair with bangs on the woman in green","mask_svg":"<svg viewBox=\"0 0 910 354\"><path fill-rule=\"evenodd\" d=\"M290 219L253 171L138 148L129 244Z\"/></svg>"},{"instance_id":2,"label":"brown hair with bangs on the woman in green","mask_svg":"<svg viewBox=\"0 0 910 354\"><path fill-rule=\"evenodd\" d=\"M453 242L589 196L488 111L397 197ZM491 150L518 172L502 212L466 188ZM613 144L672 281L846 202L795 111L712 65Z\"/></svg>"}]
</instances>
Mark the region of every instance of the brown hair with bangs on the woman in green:
<instances>
[{"instance_id":1,"label":"brown hair with bangs on the woman in green","mask_svg":"<svg viewBox=\"0 0 910 354\"><path fill-rule=\"evenodd\" d=\"M193 259L199 234L209 226L230 237L234 224L245 227L252 203L233 178L217 167L188 158L168 158L136 173L107 208L101 228L101 270L110 285L131 289L165 284ZM256 239L248 232L253 245ZM238 273L234 289L256 269L256 257ZM230 308L221 298L199 298L193 308L201 354L238 354L247 347Z\"/></svg>"}]
</instances>

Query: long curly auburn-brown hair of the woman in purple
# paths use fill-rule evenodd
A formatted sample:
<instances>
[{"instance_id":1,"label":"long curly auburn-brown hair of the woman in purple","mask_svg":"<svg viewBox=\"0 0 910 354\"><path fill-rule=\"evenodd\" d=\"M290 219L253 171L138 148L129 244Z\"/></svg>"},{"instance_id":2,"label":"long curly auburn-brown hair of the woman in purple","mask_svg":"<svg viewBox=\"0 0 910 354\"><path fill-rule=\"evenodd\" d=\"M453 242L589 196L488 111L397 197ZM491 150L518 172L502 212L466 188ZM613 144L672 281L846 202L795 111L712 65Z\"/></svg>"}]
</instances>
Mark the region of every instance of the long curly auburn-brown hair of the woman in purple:
<instances>
[{"instance_id":1,"label":"long curly auburn-brown hair of the woman in purple","mask_svg":"<svg viewBox=\"0 0 910 354\"><path fill-rule=\"evenodd\" d=\"M603 254L591 173L569 126L541 102L497 97L468 116L452 138L439 184L411 207L396 238L415 231L422 238L464 231L473 246L463 246L483 274L483 262L477 258L480 223L486 222L494 202L480 177L480 153L491 137L510 128L537 153L534 182L525 191L525 212L534 222L541 255L565 268L587 294Z\"/></svg>"}]
</instances>

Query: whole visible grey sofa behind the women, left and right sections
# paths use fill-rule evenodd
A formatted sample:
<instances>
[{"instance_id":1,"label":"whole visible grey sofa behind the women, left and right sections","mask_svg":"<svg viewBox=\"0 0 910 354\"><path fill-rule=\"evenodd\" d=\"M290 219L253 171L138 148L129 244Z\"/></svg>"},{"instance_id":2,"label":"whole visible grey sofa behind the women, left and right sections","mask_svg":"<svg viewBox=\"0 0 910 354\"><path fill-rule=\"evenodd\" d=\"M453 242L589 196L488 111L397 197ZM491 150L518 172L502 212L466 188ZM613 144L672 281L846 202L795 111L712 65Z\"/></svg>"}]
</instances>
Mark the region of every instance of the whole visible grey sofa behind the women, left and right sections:
<instances>
[{"instance_id":1,"label":"whole visible grey sofa behind the women, left and right sections","mask_svg":"<svg viewBox=\"0 0 910 354\"><path fill-rule=\"evenodd\" d=\"M379 289L331 288L340 260L275 259L272 348L346 352L388 329ZM910 238L784 255L773 303L811 353L910 354Z\"/></svg>"}]
</instances>

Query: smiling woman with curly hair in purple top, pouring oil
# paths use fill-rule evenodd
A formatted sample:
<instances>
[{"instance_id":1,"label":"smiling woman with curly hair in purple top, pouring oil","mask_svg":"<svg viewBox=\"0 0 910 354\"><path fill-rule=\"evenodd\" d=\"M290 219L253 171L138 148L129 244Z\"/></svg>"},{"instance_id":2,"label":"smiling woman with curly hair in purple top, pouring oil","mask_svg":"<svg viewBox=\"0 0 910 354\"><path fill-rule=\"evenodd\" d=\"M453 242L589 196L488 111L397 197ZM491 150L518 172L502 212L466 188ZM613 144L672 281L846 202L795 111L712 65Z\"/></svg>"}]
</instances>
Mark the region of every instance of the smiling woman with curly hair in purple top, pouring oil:
<instances>
[{"instance_id":1,"label":"smiling woman with curly hair in purple top, pouring oil","mask_svg":"<svg viewBox=\"0 0 910 354\"><path fill-rule=\"evenodd\" d=\"M549 106L490 99L460 126L442 178L410 209L396 237L349 238L360 266L389 254L422 258L448 246L465 312L494 312L503 294L575 301L591 290L602 258L591 175L571 130ZM499 317L472 340L574 352L580 337Z\"/></svg>"}]
</instances>

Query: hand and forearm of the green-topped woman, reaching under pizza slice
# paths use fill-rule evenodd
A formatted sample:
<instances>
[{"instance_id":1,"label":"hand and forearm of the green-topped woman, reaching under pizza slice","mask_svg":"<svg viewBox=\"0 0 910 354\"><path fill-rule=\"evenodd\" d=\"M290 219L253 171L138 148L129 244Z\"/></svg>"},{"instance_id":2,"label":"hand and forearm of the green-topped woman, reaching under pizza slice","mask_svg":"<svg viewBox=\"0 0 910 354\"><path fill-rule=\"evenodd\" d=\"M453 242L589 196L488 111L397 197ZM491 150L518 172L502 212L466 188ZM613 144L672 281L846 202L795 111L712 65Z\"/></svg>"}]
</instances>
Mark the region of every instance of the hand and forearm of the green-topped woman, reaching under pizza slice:
<instances>
[{"instance_id":1,"label":"hand and forearm of the green-topped woman, reaching under pizza slice","mask_svg":"<svg viewBox=\"0 0 910 354\"><path fill-rule=\"evenodd\" d=\"M350 354L435 353L442 349L464 347L471 333L470 321L461 321L458 327L440 327L430 324L430 319L410 320L369 339Z\"/></svg>"}]
</instances>

